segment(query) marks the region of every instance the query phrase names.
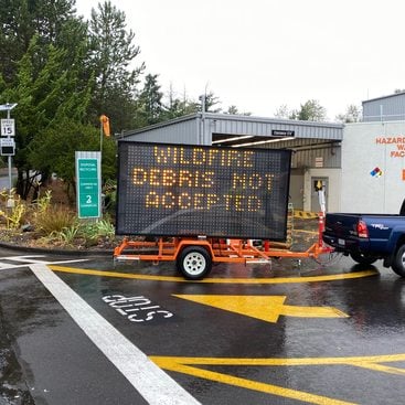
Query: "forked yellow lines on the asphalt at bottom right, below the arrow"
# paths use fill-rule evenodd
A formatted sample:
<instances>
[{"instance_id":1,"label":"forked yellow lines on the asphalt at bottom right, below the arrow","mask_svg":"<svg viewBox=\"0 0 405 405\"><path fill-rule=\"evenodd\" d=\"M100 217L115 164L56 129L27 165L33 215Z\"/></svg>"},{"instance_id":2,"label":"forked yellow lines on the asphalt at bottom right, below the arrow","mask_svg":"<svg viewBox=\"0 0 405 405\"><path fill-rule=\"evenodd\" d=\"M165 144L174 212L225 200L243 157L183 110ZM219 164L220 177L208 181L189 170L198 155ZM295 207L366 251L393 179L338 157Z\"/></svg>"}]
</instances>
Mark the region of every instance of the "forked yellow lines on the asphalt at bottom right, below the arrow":
<instances>
[{"instance_id":1,"label":"forked yellow lines on the asphalt at bottom right, below the arrow","mask_svg":"<svg viewBox=\"0 0 405 405\"><path fill-rule=\"evenodd\" d=\"M228 359L228 358L170 358L150 356L160 367L200 379L205 379L222 384L228 384L258 391L266 394L277 395L320 405L353 405L353 403L330 398L317 394L286 388L278 385L260 383L247 379L235 377L210 370L199 369L201 366L311 366L311 365L343 365L372 370L375 372L405 375L405 370L387 366L381 363L404 362L405 354L388 354L374 356L352 356L352 358L303 358L303 359Z\"/></svg>"}]
</instances>

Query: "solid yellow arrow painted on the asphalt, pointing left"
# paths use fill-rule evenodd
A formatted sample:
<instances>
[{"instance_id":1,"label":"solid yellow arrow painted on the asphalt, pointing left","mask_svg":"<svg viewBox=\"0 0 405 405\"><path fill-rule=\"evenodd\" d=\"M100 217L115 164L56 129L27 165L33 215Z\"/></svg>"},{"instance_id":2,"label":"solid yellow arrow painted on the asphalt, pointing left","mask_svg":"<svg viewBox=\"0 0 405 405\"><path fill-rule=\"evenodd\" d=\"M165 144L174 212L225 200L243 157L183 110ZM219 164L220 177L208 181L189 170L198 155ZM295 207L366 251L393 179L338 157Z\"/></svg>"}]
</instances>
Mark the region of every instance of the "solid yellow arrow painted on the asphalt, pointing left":
<instances>
[{"instance_id":1,"label":"solid yellow arrow painted on the asphalt, pointing left","mask_svg":"<svg viewBox=\"0 0 405 405\"><path fill-rule=\"evenodd\" d=\"M287 296L210 296L210 295L173 295L189 301L215 307L245 317L276 323L283 315L299 318L349 318L333 307L287 306Z\"/></svg>"}]
</instances>

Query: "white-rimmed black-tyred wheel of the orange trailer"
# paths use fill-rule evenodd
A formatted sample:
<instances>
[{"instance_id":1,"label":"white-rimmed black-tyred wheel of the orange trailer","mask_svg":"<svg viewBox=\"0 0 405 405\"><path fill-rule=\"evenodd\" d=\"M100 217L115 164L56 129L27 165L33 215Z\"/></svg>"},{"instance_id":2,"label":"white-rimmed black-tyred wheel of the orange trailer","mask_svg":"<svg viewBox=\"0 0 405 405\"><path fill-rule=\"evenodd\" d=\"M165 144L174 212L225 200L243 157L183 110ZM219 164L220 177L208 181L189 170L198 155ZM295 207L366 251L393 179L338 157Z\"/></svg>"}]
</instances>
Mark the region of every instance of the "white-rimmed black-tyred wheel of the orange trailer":
<instances>
[{"instance_id":1,"label":"white-rimmed black-tyred wheel of the orange trailer","mask_svg":"<svg viewBox=\"0 0 405 405\"><path fill-rule=\"evenodd\" d=\"M181 251L177 266L184 278L200 280L211 271L212 259L203 247L186 246Z\"/></svg>"}]
</instances>

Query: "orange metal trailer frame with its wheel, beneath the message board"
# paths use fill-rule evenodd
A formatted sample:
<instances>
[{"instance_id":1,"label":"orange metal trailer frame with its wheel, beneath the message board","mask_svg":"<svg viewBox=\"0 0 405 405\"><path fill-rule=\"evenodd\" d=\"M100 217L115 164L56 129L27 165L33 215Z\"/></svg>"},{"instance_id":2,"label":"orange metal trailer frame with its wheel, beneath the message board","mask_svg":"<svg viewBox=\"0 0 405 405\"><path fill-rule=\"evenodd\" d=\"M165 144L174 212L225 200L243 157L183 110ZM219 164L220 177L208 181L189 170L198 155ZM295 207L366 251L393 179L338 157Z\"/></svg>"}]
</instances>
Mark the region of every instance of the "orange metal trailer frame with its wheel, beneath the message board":
<instances>
[{"instance_id":1,"label":"orange metal trailer frame with its wheel, beneath the message board","mask_svg":"<svg viewBox=\"0 0 405 405\"><path fill-rule=\"evenodd\" d=\"M159 262L177 262L178 267L184 277L189 279L203 278L211 270L211 263L269 263L271 257L289 258L315 258L320 255L331 253L333 249L326 246L322 241L324 221L323 213L319 213L318 242L313 243L307 251L292 252L279 247L271 247L269 241L264 241L262 249L253 246L252 241L199 237L159 237L156 242L130 241L125 237L119 246L114 249L114 262L125 260L149 260L158 264ZM190 257L182 257L182 252L188 248ZM204 251L201 251L204 249ZM203 257L202 257L203 256ZM181 260L191 260L190 266L193 271L184 270ZM209 262L209 269L200 271L202 262Z\"/></svg>"}]
</instances>

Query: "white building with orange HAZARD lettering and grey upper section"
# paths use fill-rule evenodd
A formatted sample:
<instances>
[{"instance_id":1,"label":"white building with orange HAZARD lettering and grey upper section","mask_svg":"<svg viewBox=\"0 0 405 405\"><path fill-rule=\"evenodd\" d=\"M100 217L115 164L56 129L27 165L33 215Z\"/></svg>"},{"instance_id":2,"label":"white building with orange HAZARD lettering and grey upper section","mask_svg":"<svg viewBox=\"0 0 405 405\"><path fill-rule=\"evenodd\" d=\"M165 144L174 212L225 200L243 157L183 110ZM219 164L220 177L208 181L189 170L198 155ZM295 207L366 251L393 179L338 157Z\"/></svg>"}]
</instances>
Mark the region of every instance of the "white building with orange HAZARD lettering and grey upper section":
<instances>
[{"instance_id":1,"label":"white building with orange HAZARD lettering and grey upper section","mask_svg":"<svg viewBox=\"0 0 405 405\"><path fill-rule=\"evenodd\" d=\"M405 198L405 92L369 99L347 124L341 211L397 214Z\"/></svg>"}]
</instances>

